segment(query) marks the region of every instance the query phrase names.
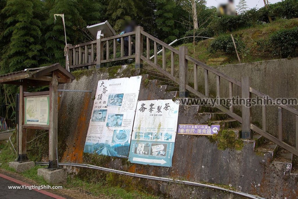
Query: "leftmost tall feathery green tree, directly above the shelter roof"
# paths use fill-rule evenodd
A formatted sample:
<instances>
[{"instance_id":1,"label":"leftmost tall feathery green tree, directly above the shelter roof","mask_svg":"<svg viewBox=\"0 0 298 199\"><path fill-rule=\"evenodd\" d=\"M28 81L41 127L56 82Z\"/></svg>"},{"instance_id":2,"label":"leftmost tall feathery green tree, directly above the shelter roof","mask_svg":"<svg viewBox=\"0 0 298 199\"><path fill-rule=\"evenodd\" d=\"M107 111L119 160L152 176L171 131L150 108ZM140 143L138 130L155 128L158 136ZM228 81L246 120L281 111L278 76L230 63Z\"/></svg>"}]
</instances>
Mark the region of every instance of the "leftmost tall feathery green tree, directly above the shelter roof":
<instances>
[{"instance_id":1,"label":"leftmost tall feathery green tree, directly above the shelter roof","mask_svg":"<svg viewBox=\"0 0 298 199\"><path fill-rule=\"evenodd\" d=\"M37 67L42 61L42 23L38 18L41 12L39 0L7 0L1 11L6 26L1 41L9 41L1 51L2 73Z\"/></svg>"}]
</instances>

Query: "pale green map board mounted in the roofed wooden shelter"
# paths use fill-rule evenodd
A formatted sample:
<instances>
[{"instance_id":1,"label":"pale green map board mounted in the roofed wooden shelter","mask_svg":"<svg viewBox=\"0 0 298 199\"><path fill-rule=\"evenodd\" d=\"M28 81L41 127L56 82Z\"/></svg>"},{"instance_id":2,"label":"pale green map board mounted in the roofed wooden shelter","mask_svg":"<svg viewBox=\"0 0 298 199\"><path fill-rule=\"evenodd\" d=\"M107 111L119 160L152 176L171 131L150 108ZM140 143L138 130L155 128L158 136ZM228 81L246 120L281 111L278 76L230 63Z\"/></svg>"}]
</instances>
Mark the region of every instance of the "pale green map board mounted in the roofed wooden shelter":
<instances>
[{"instance_id":1,"label":"pale green map board mounted in the roofed wooden shelter","mask_svg":"<svg viewBox=\"0 0 298 199\"><path fill-rule=\"evenodd\" d=\"M24 97L24 124L49 125L49 96Z\"/></svg>"}]
</instances>

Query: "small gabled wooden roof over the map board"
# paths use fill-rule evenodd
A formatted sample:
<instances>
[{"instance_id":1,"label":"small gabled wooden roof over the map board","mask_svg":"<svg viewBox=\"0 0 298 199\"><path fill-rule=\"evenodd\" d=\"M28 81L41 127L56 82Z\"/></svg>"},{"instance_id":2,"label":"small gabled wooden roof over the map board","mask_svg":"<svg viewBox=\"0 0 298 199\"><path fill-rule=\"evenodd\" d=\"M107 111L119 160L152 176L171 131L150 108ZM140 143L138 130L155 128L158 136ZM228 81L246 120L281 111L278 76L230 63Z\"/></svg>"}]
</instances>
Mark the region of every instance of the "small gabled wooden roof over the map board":
<instances>
[{"instance_id":1,"label":"small gabled wooden roof over the map board","mask_svg":"<svg viewBox=\"0 0 298 199\"><path fill-rule=\"evenodd\" d=\"M14 85L26 84L34 87L49 85L49 82L52 81L53 71L58 73L59 84L71 83L75 79L75 76L69 71L60 66L59 63L55 63L50 66L24 69L22 71L0 75L0 83Z\"/></svg>"}]
</instances>

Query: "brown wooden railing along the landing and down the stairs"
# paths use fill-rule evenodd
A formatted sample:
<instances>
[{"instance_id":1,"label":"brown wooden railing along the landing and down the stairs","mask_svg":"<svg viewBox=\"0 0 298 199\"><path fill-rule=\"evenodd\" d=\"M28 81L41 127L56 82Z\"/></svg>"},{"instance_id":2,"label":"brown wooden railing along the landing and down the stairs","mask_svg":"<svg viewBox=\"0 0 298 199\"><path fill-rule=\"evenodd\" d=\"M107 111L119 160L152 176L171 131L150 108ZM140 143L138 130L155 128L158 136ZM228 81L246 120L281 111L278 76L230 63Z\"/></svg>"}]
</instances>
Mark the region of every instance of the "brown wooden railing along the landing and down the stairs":
<instances>
[{"instance_id":1,"label":"brown wooden railing along the landing and down the stairs","mask_svg":"<svg viewBox=\"0 0 298 199\"><path fill-rule=\"evenodd\" d=\"M131 41L131 35L136 35L136 52L135 55L131 55L131 46L129 46L128 49L128 56L123 57L123 39L125 37L129 38L129 41ZM143 36L146 37L145 41L147 41L147 44L145 46L145 48L147 49L146 52L146 56L143 55ZM121 38L121 57L116 57L116 39ZM113 40L113 58L109 59L109 52L106 52L106 59L103 60L103 58L100 58L103 56L103 42L109 42L110 40ZM150 42L149 40L153 40L154 42L154 61L149 60L150 57ZM94 54L94 49L93 49L93 45L96 43L96 48L97 48L97 56L95 57L95 59L97 59L97 61L94 61L94 57L91 56ZM129 42L130 43L130 42ZM158 65L157 62L157 44L162 46L162 66ZM87 52L87 45L91 45L91 59L89 58L88 60L90 61L89 63L81 63L81 56L83 55L84 52L82 52L82 47L85 46L85 52ZM116 35L116 36L112 36L112 37L108 37L108 38L102 38L96 41L90 41L87 43L82 43L82 44L78 44L78 45L74 45L74 46L67 46L68 49L75 49L75 48L79 48L79 59L76 57L76 55L73 55L73 59L74 62L73 63L79 63L79 64L73 64L72 66L69 66L69 68L77 68L77 67L82 67L82 66L90 66L90 65L95 65L98 63L107 63L107 62L113 62L113 61L119 61L119 60L125 60L125 59L130 59L130 58L135 58L136 60L136 64L135 67L136 69L139 69L142 67L142 63L143 61L148 63L150 66L152 66L154 69L156 69L157 71L159 71L161 74L165 75L166 77L168 77L170 80L172 80L173 82L179 84L179 94L183 95L183 96L187 96L187 92L189 91L195 95L197 95L200 98L209 98L209 78L208 78L208 72L212 72L213 74L215 74L216 76L216 94L217 96L219 96L220 94L220 83L222 79L225 79L229 82L229 98L232 98L232 94L233 94L233 85L237 85L241 88L241 92L242 92L242 96L244 96L245 98L250 98L251 94L255 94L263 99L269 99L270 97L268 95L263 94L260 91L257 91L256 89L252 88L250 86L250 79L248 77L242 78L242 82L233 79L232 77L227 76L226 74L222 73L221 71L218 71L210 66L207 66L205 63L198 61L196 59L194 59L193 57L190 57L187 55L187 48L179 48L179 50L173 48L172 46L169 46L168 44L160 41L159 39L153 37L152 35L148 34L147 32L144 32L142 27L137 27L135 32L129 32L129 33L125 33L122 35ZM110 46L109 44L107 44L107 49L109 49ZM171 54L171 71L170 73L168 71L166 71L166 49L170 50L170 54ZM72 52L72 51L70 51ZM77 52L77 50L75 49L73 52ZM175 77L175 66L174 66L174 55L177 54L179 55L179 78ZM71 55L71 54L70 54ZM89 55L89 52L88 52ZM85 56L83 56L85 58L85 62L86 62L86 57L87 54L85 53ZM76 61L75 59L77 59L78 61ZM188 61L193 63L194 66L194 75L197 76L197 67L200 66L204 69L204 77L205 77L205 94L202 94L201 92L198 91L198 86L195 85L194 88L192 88L191 86L188 85ZM181 68L181 66L183 67L183 69ZM183 77L181 77L181 75ZM184 77L185 76L185 77ZM197 83L198 82L198 78L194 77L194 82ZM180 88L181 87L181 88ZM181 91L181 92L180 92ZM272 98L270 98L272 99ZM283 147L284 149L290 151L291 153L295 154L298 156L298 110L295 108L292 108L288 105L279 105L276 104L276 100L272 99L272 103L274 103L275 105L278 106L278 137L275 137L273 135L271 135L270 133L266 132L266 105L263 105L262 107L262 124L263 124L263 129L258 128L257 126L252 124L251 121L251 108L249 107L245 107L245 109L242 109L242 117L235 114L233 112L233 107L230 107L229 109L224 107L223 105L215 105L216 108L218 108L219 110L223 111L224 113L228 114L229 116L231 116L232 118L236 119L237 121L239 121L240 123L242 123L242 127L244 129L245 132L244 134L246 134L245 136L247 136L247 138L251 138L252 134L250 133L250 130L253 130L257 133L259 133L260 135L264 136L265 138L271 140L272 142L278 144L279 146ZM291 112L292 114L295 115L295 144L296 144L296 148L293 146L290 146L289 144L283 142L283 129L282 129L282 116L283 116L283 110L285 109L289 112ZM244 110L244 112L243 112Z\"/></svg>"}]
</instances>

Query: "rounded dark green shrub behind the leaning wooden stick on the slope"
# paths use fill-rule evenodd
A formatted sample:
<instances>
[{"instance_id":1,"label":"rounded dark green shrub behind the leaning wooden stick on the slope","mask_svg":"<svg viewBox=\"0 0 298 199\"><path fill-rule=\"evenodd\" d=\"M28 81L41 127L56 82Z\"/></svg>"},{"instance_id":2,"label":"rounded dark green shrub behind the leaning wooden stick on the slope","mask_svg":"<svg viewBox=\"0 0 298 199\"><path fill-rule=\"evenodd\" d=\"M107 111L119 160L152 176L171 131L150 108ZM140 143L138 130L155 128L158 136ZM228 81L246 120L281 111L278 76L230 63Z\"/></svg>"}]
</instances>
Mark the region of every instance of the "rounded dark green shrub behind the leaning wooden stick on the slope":
<instances>
[{"instance_id":1,"label":"rounded dark green shrub behind the leaning wooden stick on the slope","mask_svg":"<svg viewBox=\"0 0 298 199\"><path fill-rule=\"evenodd\" d=\"M245 49L245 44L240 37L234 38L238 52ZM218 51L225 52L229 55L235 55L235 47L230 35L222 35L216 38L209 46L209 52L215 53Z\"/></svg>"}]
</instances>

